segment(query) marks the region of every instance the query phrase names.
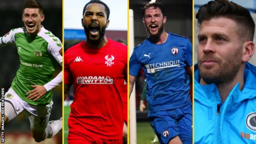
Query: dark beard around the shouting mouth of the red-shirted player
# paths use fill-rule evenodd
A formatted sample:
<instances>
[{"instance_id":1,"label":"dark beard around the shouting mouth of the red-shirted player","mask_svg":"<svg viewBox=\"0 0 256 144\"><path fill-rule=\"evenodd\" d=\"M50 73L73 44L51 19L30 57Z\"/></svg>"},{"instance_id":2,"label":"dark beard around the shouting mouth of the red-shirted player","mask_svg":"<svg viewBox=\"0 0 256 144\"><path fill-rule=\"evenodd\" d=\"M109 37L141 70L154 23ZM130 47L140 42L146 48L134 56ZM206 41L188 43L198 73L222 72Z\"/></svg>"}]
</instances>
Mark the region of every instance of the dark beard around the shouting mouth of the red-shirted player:
<instances>
[{"instance_id":1,"label":"dark beard around the shouting mouth of the red-shirted player","mask_svg":"<svg viewBox=\"0 0 256 144\"><path fill-rule=\"evenodd\" d=\"M100 41L103 39L103 37L105 35L106 26L103 26L102 28L100 26L98 26L99 38L94 40L94 39L90 38L91 25L93 25L93 24L95 25L95 23L91 23L89 25L89 27L84 26L85 35L86 35L86 39L91 44L98 44L98 43L100 43Z\"/></svg>"}]
</instances>

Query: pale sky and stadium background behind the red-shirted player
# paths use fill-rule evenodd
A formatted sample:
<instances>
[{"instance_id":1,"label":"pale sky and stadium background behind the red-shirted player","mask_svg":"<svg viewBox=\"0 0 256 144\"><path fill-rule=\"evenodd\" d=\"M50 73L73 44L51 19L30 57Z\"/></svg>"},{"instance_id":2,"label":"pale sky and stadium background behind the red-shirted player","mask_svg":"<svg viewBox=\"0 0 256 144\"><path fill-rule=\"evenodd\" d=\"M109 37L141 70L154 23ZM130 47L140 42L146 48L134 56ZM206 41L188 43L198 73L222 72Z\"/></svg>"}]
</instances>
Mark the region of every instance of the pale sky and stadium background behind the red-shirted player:
<instances>
[{"instance_id":1,"label":"pale sky and stadium background behind the red-shirted player","mask_svg":"<svg viewBox=\"0 0 256 144\"><path fill-rule=\"evenodd\" d=\"M106 36L112 40L121 40L127 44L127 0L102 0L110 8L110 24ZM86 39L81 24L82 11L89 0L64 0L64 50ZM68 118L70 104L73 101L73 91L69 92L64 101L64 144L68 144Z\"/></svg>"}]
</instances>

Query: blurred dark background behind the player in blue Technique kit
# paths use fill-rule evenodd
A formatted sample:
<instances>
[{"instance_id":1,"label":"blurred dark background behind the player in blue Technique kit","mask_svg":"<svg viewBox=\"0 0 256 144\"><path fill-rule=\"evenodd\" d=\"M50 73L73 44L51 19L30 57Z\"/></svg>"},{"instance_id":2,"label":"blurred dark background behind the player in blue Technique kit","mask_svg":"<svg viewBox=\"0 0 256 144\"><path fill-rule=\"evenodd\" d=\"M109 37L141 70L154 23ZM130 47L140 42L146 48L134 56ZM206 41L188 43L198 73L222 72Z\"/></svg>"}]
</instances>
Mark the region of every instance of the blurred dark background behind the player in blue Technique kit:
<instances>
[{"instance_id":1,"label":"blurred dark background behind the player in blue Technique kit","mask_svg":"<svg viewBox=\"0 0 256 144\"><path fill-rule=\"evenodd\" d=\"M129 0L129 9L133 10L133 27L134 31L134 46L139 45L149 35L146 32L146 28L142 22L143 13L139 8L143 7L143 3L149 0ZM167 32L179 34L188 37L192 43L192 0L158 0L165 6L165 14L167 16L167 22L164 27ZM130 25L129 25L130 27ZM129 29L129 31L131 28ZM131 33L131 32L129 32ZM129 36L130 37L130 36ZM129 39L131 41L131 38ZM129 55L133 51L133 47L129 47ZM144 71L143 69L137 76L135 82L135 105L136 105L136 129L137 129L137 141L131 138L133 135L132 128L130 127L130 144L151 144L154 138L153 130L148 122L148 108L143 112L139 111L139 101L142 94L143 82L144 82ZM191 85L192 85L192 80ZM191 93L192 96L192 93ZM130 98L131 99L131 98ZM130 106L133 102L130 100ZM144 102L146 105L146 102ZM130 107L130 110L132 108ZM132 126L132 119L130 111L130 126Z\"/></svg>"}]
</instances>

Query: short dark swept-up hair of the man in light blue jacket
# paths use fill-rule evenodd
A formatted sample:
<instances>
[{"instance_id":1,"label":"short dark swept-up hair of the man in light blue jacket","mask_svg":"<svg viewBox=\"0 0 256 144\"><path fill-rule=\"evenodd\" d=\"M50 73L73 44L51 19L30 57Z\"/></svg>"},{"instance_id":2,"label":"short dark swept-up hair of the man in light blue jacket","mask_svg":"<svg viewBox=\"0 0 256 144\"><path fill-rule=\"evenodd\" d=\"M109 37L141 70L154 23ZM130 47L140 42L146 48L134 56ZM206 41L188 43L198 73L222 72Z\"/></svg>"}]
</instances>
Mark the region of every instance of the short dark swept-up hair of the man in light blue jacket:
<instances>
[{"instance_id":1,"label":"short dark swept-up hair of the man in light blue jacket","mask_svg":"<svg viewBox=\"0 0 256 144\"><path fill-rule=\"evenodd\" d=\"M238 24L238 34L244 37L245 41L254 39L255 23L250 12L234 2L228 0L210 1L199 8L196 18L200 27L203 20L222 16L230 18Z\"/></svg>"}]
</instances>

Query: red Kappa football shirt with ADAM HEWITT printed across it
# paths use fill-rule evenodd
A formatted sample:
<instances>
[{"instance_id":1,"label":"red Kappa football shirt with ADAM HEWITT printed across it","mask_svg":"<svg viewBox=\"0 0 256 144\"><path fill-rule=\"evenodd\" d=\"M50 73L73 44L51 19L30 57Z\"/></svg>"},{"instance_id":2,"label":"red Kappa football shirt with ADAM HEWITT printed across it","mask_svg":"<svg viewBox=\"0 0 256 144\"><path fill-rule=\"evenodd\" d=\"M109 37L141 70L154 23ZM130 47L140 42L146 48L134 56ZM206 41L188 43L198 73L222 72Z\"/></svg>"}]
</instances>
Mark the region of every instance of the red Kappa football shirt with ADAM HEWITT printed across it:
<instances>
[{"instance_id":1,"label":"red Kappa football shirt with ADAM HEWITT printed across it","mask_svg":"<svg viewBox=\"0 0 256 144\"><path fill-rule=\"evenodd\" d=\"M74 85L69 133L121 139L125 78L127 46L122 43L108 39L104 47L93 49L82 41L66 50L64 84Z\"/></svg>"}]
</instances>

